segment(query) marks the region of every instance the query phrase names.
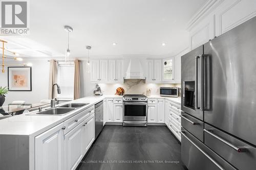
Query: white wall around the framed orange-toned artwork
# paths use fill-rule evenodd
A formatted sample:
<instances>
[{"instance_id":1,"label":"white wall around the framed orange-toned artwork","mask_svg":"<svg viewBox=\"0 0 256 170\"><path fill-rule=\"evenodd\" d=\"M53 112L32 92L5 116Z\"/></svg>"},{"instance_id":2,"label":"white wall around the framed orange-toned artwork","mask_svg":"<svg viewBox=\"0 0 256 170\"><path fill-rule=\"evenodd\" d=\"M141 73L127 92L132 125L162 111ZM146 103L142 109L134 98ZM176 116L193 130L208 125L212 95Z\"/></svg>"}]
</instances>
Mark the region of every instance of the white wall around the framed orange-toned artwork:
<instances>
[{"instance_id":1,"label":"white wall around the framed orange-toned artwork","mask_svg":"<svg viewBox=\"0 0 256 170\"><path fill-rule=\"evenodd\" d=\"M42 99L48 99L49 62L47 60L30 60L19 63L32 63L32 91L9 91L4 105L12 101L25 101L26 103L39 103ZM16 61L6 61L8 64L17 64ZM7 66L5 73L0 72L0 86L8 86Z\"/></svg>"}]
</instances>

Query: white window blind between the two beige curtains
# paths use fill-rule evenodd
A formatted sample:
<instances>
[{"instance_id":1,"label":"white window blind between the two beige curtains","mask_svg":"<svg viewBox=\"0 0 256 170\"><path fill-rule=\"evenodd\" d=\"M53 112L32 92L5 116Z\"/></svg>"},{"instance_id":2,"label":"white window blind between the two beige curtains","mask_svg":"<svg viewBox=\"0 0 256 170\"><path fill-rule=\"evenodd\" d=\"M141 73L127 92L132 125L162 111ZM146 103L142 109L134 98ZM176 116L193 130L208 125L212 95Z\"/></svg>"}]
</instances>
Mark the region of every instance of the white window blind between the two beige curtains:
<instances>
[{"instance_id":1,"label":"white window blind between the two beige curtains","mask_svg":"<svg viewBox=\"0 0 256 170\"><path fill-rule=\"evenodd\" d=\"M58 100L72 100L74 94L74 64L58 64Z\"/></svg>"}]
</instances>

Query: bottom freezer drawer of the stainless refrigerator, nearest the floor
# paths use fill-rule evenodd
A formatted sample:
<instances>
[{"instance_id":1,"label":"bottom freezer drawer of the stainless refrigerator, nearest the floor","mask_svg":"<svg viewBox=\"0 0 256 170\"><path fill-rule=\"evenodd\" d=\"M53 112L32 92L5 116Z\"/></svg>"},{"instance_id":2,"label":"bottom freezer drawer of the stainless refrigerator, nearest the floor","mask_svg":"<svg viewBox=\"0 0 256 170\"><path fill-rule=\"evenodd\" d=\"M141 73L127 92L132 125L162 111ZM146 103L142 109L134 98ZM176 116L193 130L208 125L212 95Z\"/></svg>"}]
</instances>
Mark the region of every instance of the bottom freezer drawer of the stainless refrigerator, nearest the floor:
<instances>
[{"instance_id":1,"label":"bottom freezer drawer of the stainless refrigerator, nearest the floor","mask_svg":"<svg viewBox=\"0 0 256 170\"><path fill-rule=\"evenodd\" d=\"M236 169L184 128L181 134L181 160L189 170Z\"/></svg>"}]
</instances>

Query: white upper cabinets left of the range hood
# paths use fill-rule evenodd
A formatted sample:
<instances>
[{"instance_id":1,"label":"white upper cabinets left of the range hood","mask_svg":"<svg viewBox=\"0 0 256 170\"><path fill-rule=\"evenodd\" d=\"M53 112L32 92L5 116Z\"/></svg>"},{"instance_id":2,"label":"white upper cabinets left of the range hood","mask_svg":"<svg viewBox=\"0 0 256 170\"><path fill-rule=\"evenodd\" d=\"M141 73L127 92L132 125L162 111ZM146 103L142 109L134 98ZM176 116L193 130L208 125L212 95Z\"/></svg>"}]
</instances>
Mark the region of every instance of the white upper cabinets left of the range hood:
<instances>
[{"instance_id":1,"label":"white upper cabinets left of the range hood","mask_svg":"<svg viewBox=\"0 0 256 170\"><path fill-rule=\"evenodd\" d=\"M123 82L123 60L91 60L91 81L99 83Z\"/></svg>"}]
</instances>

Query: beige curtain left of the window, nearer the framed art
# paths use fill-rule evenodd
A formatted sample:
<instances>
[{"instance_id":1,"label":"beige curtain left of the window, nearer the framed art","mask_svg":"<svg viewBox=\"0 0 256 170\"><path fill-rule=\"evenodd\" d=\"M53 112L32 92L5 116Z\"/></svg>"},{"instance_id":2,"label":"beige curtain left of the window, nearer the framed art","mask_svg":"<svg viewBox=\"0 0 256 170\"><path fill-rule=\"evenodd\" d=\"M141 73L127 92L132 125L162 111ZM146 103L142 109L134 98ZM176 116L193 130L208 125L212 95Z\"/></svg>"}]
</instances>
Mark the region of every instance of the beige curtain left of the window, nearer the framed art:
<instances>
[{"instance_id":1,"label":"beige curtain left of the window, nearer the framed art","mask_svg":"<svg viewBox=\"0 0 256 170\"><path fill-rule=\"evenodd\" d=\"M54 83L57 83L57 76L58 76L57 61L50 60L49 99L52 99L52 86ZM54 88L56 88L56 86ZM56 89L54 89L53 91L53 99L54 98L57 98Z\"/></svg>"}]
</instances>

